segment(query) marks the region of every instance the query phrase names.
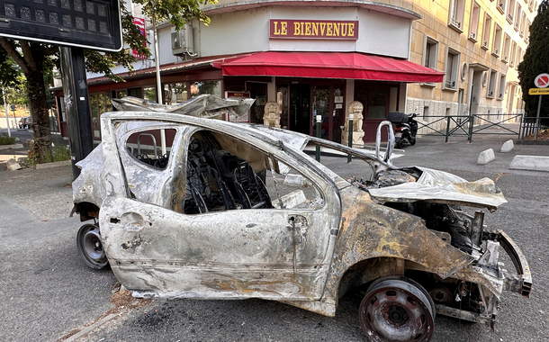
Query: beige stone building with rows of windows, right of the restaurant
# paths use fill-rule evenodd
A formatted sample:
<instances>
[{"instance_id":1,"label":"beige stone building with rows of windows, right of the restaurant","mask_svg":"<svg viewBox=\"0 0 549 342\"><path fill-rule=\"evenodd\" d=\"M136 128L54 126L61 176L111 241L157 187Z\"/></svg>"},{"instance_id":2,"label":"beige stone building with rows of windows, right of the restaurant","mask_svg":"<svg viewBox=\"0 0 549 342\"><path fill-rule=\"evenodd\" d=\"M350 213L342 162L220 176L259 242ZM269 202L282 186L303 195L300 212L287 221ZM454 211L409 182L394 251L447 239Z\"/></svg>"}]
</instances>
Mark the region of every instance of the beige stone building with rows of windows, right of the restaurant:
<instances>
[{"instance_id":1,"label":"beige stone building with rows of windows, right of the restaurant","mask_svg":"<svg viewBox=\"0 0 549 342\"><path fill-rule=\"evenodd\" d=\"M408 85L406 112L424 120L499 115L491 121L524 112L518 64L536 9L536 0L413 0L422 19L412 23L410 61L446 76L442 83Z\"/></svg>"}]
</instances>

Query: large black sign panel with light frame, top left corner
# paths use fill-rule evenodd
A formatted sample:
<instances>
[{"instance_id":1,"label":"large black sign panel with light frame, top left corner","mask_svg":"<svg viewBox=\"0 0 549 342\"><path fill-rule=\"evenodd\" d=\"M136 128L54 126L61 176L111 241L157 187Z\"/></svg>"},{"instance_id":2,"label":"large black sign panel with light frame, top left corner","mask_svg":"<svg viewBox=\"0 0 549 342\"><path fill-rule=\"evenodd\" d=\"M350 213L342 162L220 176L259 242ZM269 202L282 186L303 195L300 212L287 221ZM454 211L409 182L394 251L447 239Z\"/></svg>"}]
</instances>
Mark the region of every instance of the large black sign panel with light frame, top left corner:
<instances>
[{"instance_id":1,"label":"large black sign panel with light frame, top left corner","mask_svg":"<svg viewBox=\"0 0 549 342\"><path fill-rule=\"evenodd\" d=\"M119 0L0 0L0 36L119 51Z\"/></svg>"}]
</instances>

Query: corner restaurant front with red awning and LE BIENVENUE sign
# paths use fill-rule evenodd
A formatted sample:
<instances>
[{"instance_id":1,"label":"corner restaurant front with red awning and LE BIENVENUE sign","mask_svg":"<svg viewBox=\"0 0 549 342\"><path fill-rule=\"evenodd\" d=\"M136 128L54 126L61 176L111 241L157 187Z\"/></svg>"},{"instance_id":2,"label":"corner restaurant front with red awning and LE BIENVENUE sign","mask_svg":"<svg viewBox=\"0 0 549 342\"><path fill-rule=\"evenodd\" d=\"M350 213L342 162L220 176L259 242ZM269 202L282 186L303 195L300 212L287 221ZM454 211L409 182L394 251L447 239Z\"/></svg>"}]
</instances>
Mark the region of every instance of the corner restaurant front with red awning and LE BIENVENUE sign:
<instances>
[{"instance_id":1,"label":"corner restaurant front with red awning and LE BIENVENUE sign","mask_svg":"<svg viewBox=\"0 0 549 342\"><path fill-rule=\"evenodd\" d=\"M139 17L139 7L127 5ZM275 102L283 128L316 135L320 115L321 136L339 142L347 107L357 101L364 106L367 142L389 112L405 111L407 85L442 82L445 75L410 62L412 23L421 17L411 2L220 0L203 11L209 25L157 28L165 104L198 94L250 97L256 101L249 114L227 120L263 123L266 103ZM140 59L131 74L115 67L123 83L88 75L94 139L101 139L99 116L112 110L112 97L158 101L154 58Z\"/></svg>"}]
</instances>

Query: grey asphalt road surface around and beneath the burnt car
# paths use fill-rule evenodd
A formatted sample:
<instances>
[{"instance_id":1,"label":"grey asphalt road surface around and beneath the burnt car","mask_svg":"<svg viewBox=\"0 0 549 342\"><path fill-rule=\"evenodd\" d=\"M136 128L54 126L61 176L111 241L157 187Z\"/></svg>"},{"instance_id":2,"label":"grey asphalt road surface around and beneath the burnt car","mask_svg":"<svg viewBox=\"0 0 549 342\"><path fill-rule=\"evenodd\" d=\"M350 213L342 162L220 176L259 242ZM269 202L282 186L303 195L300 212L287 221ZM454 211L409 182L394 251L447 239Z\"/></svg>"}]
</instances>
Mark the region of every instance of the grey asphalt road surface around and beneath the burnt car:
<instances>
[{"instance_id":1,"label":"grey asphalt road surface around and beneath the burnt car","mask_svg":"<svg viewBox=\"0 0 549 342\"><path fill-rule=\"evenodd\" d=\"M424 138L406 148L395 165L419 165L469 180L496 180L509 203L486 216L523 249L534 278L530 299L504 293L494 332L479 324L437 316L433 341L549 340L549 173L510 170L514 155L549 156L547 146L517 146L499 153L506 138L467 143ZM496 160L476 165L494 148ZM361 175L364 165L322 157L336 172ZM1 167L0 167L1 168ZM279 302L154 300L116 293L110 270L87 268L76 251L77 219L71 207L70 167L0 171L0 340L57 341L91 324L103 325L78 341L365 341L357 311L360 293L348 293L334 319ZM511 266L509 265L509 268ZM110 315L111 314L111 315ZM110 315L110 316L109 316ZM69 338L70 340L70 338Z\"/></svg>"}]
</instances>

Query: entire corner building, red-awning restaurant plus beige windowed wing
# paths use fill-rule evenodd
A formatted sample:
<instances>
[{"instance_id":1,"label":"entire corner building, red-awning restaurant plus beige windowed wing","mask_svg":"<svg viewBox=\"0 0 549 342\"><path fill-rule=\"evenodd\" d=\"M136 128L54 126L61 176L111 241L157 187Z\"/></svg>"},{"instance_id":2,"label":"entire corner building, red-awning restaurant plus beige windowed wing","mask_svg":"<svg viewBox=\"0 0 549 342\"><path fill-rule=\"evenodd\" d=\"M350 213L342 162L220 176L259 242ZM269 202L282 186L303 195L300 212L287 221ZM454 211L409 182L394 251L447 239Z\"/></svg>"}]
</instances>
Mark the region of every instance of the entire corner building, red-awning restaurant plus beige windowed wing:
<instances>
[{"instance_id":1,"label":"entire corner building, red-awning restaurant plus beige windowed wing","mask_svg":"<svg viewBox=\"0 0 549 342\"><path fill-rule=\"evenodd\" d=\"M262 123L266 103L276 102L283 128L316 135L320 116L321 137L338 142L353 102L363 104L365 142L389 112L419 113L438 129L446 115L498 121L523 112L517 67L537 1L219 0L202 6L209 25L191 20L175 31L160 23L158 58L139 59L132 74L112 69L126 82L88 74L93 136L101 139L99 116L111 98L126 95L161 94L163 103L204 93L250 97L256 102L242 120L251 123ZM124 3L142 17L139 5ZM152 27L139 23L152 43Z\"/></svg>"}]
</instances>

